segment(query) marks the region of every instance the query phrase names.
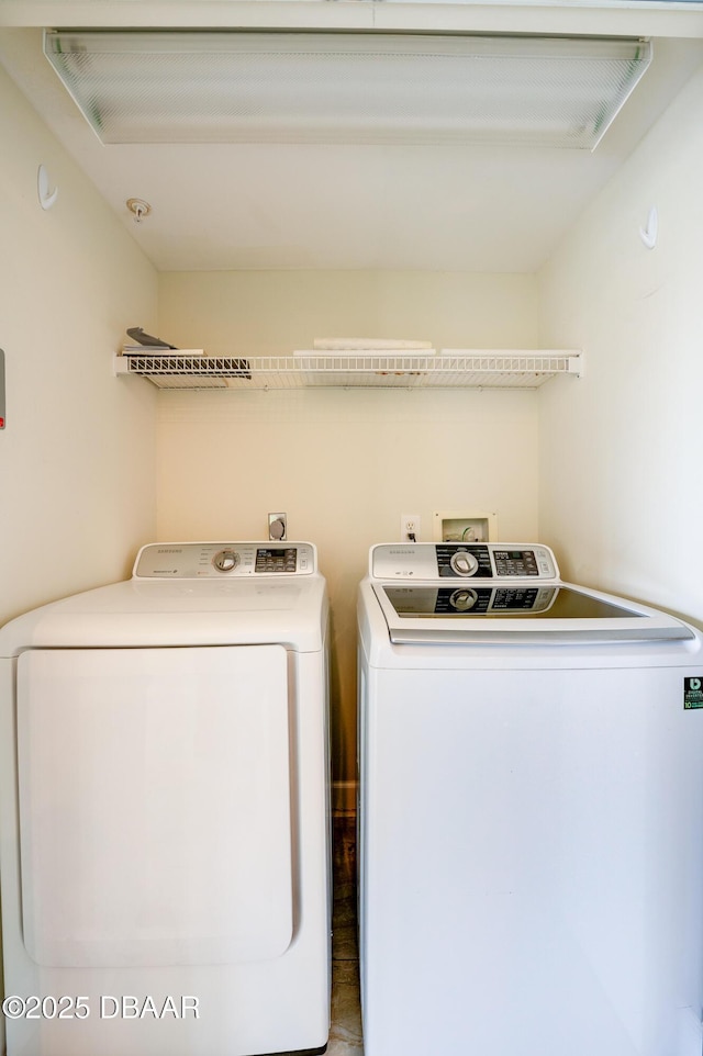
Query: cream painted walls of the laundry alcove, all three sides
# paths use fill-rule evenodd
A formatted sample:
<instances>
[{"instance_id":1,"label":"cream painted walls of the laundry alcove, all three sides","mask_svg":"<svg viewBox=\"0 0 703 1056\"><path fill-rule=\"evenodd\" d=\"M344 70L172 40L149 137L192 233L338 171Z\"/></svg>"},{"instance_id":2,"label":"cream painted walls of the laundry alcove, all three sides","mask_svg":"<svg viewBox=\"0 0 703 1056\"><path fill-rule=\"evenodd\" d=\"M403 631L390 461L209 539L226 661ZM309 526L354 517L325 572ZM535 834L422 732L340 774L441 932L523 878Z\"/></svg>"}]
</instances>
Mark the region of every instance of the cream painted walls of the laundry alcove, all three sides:
<instances>
[{"instance_id":1,"label":"cream painted walls of the laundry alcove, all three sides","mask_svg":"<svg viewBox=\"0 0 703 1056\"><path fill-rule=\"evenodd\" d=\"M421 514L428 538L435 509L495 510L502 538L550 542L573 578L703 620L694 557L703 515L703 75L538 278L172 273L159 277L158 293L129 234L4 76L0 93L9 145L0 214L11 247L0 260L0 619L126 574L136 547L156 533L261 536L267 513L283 508L291 535L317 543L330 581L343 780L353 777L356 583L368 547L397 538L403 512ZM46 213L36 201L40 162L59 187ZM660 239L650 252L638 229L652 204ZM111 352L133 324L215 355L286 353L345 335L581 346L587 375L536 395L157 396L146 382L112 377Z\"/></svg>"}]
</instances>

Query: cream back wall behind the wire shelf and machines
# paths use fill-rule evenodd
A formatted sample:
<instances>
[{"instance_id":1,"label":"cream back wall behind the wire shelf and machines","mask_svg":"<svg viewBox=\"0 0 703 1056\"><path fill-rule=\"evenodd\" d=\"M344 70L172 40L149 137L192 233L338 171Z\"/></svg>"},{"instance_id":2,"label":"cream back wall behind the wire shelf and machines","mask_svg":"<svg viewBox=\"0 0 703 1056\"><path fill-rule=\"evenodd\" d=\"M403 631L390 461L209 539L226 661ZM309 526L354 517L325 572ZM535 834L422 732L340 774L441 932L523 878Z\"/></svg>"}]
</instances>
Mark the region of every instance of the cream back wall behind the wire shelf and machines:
<instances>
[{"instance_id":1,"label":"cream back wall behind the wire shelf and machines","mask_svg":"<svg viewBox=\"0 0 703 1056\"><path fill-rule=\"evenodd\" d=\"M531 277L368 272L164 274L159 327L211 355L287 355L315 337L534 347ZM565 379L568 383L570 379ZM557 382L561 384L562 382ZM495 510L537 530L534 393L309 390L161 393L160 539L261 538L286 510L320 551L333 605L333 763L355 773L356 586L400 515Z\"/></svg>"}]
</instances>

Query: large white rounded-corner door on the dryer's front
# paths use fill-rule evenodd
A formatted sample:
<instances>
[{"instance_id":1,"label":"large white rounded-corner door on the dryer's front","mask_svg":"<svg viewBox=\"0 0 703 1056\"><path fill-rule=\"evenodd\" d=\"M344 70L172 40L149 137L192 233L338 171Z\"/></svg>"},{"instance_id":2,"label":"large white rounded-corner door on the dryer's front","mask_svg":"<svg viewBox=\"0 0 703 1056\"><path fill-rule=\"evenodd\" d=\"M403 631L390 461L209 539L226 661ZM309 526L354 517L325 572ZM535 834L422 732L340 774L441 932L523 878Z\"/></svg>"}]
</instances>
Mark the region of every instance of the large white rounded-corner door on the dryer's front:
<instances>
[{"instance_id":1,"label":"large white rounded-corner door on the dryer's front","mask_svg":"<svg viewBox=\"0 0 703 1056\"><path fill-rule=\"evenodd\" d=\"M33 650L18 683L30 956L280 956L293 930L286 649Z\"/></svg>"}]
</instances>

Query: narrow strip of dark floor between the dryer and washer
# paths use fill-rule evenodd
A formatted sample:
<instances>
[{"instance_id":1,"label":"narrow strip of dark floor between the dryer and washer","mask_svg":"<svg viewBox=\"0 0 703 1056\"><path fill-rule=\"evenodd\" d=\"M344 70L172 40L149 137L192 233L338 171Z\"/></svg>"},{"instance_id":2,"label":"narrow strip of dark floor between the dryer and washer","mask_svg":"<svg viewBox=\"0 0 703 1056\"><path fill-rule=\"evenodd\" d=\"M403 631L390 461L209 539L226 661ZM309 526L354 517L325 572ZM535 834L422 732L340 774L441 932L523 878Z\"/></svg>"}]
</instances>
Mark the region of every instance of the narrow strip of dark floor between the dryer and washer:
<instances>
[{"instance_id":1,"label":"narrow strip of dark floor between the dryer and washer","mask_svg":"<svg viewBox=\"0 0 703 1056\"><path fill-rule=\"evenodd\" d=\"M356 920L356 818L333 822L332 1029L326 1056L364 1056Z\"/></svg>"}]
</instances>

